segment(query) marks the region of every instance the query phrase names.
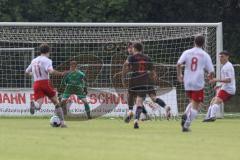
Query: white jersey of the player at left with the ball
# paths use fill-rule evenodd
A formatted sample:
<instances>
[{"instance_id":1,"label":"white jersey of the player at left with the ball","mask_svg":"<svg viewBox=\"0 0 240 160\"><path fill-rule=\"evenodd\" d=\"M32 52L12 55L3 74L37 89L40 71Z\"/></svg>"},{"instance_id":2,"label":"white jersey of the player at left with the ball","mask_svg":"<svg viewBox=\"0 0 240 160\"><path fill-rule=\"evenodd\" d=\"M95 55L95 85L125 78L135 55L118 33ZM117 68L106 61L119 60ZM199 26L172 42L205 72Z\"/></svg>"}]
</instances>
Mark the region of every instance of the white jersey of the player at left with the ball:
<instances>
[{"instance_id":1,"label":"white jersey of the player at left with the ball","mask_svg":"<svg viewBox=\"0 0 240 160\"><path fill-rule=\"evenodd\" d=\"M32 72L34 81L39 81L49 79L50 70L53 70L52 60L41 55L32 60L26 72Z\"/></svg>"}]
</instances>

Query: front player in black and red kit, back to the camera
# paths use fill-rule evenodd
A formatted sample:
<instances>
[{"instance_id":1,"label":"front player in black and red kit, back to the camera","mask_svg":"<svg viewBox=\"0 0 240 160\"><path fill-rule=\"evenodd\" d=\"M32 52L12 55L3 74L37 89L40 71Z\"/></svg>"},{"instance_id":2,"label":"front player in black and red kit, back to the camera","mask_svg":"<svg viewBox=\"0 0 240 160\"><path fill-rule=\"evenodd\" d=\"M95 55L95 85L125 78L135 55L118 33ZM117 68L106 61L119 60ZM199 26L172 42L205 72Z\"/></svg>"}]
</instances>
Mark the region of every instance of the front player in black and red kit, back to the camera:
<instances>
[{"instance_id":1,"label":"front player in black and red kit, back to the camera","mask_svg":"<svg viewBox=\"0 0 240 160\"><path fill-rule=\"evenodd\" d=\"M143 45L141 43L133 44L133 55L129 56L129 93L135 95L135 104L137 106L134 120L134 128L139 128L139 118L144 110L143 101L147 94L151 99L158 103L161 107L165 107L166 104L160 98L156 98L156 91L154 86L156 85L157 75L154 70L153 63L145 54L142 54ZM131 119L130 116L127 117Z\"/></svg>"}]
</instances>

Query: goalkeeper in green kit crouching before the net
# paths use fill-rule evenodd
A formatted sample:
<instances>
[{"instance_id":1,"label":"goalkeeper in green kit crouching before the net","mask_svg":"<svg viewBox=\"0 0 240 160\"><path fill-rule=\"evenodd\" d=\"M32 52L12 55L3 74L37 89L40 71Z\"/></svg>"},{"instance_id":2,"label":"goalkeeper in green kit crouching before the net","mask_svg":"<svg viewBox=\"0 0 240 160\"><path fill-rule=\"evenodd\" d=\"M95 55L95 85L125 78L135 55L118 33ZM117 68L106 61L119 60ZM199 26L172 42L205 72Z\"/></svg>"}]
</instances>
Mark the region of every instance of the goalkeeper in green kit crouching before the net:
<instances>
[{"instance_id":1,"label":"goalkeeper in green kit crouching before the net","mask_svg":"<svg viewBox=\"0 0 240 160\"><path fill-rule=\"evenodd\" d=\"M61 95L62 106L66 106L68 98L71 95L75 94L84 103L87 118L91 119L90 107L86 99L87 82L85 73L77 69L76 61L70 62L70 71L64 77L62 83L64 83L64 85L66 86L63 94ZM67 108L66 107L63 108L67 112Z\"/></svg>"}]
</instances>

